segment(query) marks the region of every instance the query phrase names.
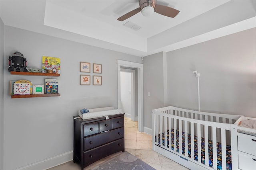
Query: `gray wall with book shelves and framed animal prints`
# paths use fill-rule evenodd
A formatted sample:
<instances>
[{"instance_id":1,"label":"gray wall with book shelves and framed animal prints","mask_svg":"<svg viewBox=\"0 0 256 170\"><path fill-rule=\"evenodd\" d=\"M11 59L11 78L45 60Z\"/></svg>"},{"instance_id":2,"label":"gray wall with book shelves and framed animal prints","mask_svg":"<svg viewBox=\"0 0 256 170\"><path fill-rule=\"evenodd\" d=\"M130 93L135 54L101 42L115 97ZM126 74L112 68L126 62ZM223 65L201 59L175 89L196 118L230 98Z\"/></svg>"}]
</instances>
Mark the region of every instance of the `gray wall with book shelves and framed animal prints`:
<instances>
[{"instance_id":1,"label":"gray wall with book shelves and framed animal prints","mask_svg":"<svg viewBox=\"0 0 256 170\"><path fill-rule=\"evenodd\" d=\"M73 120L83 107L117 108L117 59L142 63L140 57L75 43L14 27L5 27L4 50L4 169L14 169L73 150ZM8 72L8 56L20 51L28 67L42 67L42 56L59 57L60 97L9 96L10 80L43 84L44 76ZM80 61L102 64L102 74L80 72ZM102 86L80 85L80 74L102 76ZM1 99L2 100L2 99ZM13 161L15 160L15 161Z\"/></svg>"}]
</instances>

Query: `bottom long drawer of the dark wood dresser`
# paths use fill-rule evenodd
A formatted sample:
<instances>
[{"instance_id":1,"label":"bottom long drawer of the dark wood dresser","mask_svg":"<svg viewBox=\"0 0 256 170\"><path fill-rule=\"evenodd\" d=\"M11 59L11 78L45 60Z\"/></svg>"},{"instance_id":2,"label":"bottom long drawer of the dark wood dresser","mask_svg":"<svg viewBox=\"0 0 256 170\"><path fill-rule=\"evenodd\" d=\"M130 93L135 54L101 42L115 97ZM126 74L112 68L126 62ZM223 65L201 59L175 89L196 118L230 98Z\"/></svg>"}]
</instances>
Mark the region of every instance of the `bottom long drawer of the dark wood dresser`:
<instances>
[{"instance_id":1,"label":"bottom long drawer of the dark wood dresser","mask_svg":"<svg viewBox=\"0 0 256 170\"><path fill-rule=\"evenodd\" d=\"M119 139L117 141L102 145L92 150L84 152L84 165L88 166L93 162L100 160L110 154L116 153L118 151L124 151L124 139Z\"/></svg>"}]
</instances>

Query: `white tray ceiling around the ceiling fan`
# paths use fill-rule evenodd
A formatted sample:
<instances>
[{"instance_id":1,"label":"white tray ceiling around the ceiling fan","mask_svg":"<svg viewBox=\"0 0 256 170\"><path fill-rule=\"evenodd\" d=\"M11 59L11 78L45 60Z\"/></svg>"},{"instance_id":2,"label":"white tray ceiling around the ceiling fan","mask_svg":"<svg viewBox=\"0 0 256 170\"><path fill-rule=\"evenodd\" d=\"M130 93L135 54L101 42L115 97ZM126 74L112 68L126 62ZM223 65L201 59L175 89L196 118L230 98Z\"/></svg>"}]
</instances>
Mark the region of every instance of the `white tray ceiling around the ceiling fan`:
<instances>
[{"instance_id":1,"label":"white tray ceiling around the ceiling fan","mask_svg":"<svg viewBox=\"0 0 256 170\"><path fill-rule=\"evenodd\" d=\"M180 13L138 13L138 0L0 0L5 25L136 56L171 51L256 27L255 0L158 0ZM136 24L135 31L125 27Z\"/></svg>"}]
</instances>

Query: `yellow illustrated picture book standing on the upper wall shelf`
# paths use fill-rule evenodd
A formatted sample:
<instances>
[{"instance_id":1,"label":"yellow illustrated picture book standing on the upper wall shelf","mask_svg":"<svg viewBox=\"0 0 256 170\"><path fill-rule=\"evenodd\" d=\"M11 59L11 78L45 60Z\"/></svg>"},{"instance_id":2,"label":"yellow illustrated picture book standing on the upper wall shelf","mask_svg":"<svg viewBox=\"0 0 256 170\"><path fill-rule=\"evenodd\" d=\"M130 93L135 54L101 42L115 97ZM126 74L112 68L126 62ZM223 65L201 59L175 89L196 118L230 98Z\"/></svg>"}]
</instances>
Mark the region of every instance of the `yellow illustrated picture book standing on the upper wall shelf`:
<instances>
[{"instance_id":1,"label":"yellow illustrated picture book standing on the upper wall shelf","mask_svg":"<svg viewBox=\"0 0 256 170\"><path fill-rule=\"evenodd\" d=\"M42 72L47 73L52 70L52 73L60 74L60 59L56 57L42 57Z\"/></svg>"}]
</instances>

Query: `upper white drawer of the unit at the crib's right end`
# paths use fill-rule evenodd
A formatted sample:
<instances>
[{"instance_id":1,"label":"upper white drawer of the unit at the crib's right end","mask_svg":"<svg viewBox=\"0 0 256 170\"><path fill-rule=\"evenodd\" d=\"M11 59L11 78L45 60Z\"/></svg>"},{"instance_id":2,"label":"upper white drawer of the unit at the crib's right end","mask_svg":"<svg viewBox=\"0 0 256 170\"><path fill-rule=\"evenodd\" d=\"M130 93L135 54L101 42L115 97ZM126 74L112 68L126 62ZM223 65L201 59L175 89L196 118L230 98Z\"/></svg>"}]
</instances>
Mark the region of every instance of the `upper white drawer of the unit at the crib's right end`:
<instances>
[{"instance_id":1,"label":"upper white drawer of the unit at the crib's right end","mask_svg":"<svg viewBox=\"0 0 256 170\"><path fill-rule=\"evenodd\" d=\"M238 150L256 156L256 137L238 133Z\"/></svg>"}]
</instances>

